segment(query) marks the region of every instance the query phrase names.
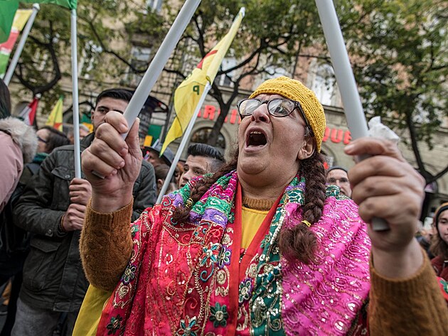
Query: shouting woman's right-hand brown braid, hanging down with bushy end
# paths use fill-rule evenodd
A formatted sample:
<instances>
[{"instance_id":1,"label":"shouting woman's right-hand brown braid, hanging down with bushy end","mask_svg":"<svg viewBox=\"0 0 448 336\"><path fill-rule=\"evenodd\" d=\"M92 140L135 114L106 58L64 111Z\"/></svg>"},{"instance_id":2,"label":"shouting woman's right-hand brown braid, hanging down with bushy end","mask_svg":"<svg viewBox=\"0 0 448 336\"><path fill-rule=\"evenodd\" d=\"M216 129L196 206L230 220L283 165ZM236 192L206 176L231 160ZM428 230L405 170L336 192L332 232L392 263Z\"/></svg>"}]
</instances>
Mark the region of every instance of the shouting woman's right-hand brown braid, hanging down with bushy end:
<instances>
[{"instance_id":1,"label":"shouting woman's right-hand brown braid, hanging down with bushy end","mask_svg":"<svg viewBox=\"0 0 448 336\"><path fill-rule=\"evenodd\" d=\"M311 224L319 221L325 202L324 158L314 153L300 163L300 175L306 180L303 220ZM300 260L308 264L314 259L317 248L316 236L306 224L299 223L284 229L279 235L279 249L288 260Z\"/></svg>"}]
</instances>

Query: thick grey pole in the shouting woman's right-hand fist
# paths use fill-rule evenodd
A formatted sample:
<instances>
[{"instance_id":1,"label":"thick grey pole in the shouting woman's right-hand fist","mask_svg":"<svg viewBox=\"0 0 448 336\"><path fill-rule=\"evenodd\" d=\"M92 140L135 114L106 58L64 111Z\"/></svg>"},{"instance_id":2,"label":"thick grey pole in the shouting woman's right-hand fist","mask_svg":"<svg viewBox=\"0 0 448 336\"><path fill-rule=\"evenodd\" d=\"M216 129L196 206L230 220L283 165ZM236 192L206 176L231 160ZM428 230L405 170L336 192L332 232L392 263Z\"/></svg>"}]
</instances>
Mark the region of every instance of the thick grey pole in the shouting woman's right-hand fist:
<instances>
[{"instance_id":1,"label":"thick grey pole in the shouting woman's right-hand fist","mask_svg":"<svg viewBox=\"0 0 448 336\"><path fill-rule=\"evenodd\" d=\"M363 112L361 98L356 87L355 76L348 59L333 0L316 0L316 6L321 18L322 28L324 29L326 44L329 47L336 82L338 82L339 91L341 92L348 129L353 139L368 136L366 116ZM362 156L360 159L367 157ZM375 231L383 231L389 229L389 225L385 220L375 217L372 220L372 228Z\"/></svg>"}]
</instances>

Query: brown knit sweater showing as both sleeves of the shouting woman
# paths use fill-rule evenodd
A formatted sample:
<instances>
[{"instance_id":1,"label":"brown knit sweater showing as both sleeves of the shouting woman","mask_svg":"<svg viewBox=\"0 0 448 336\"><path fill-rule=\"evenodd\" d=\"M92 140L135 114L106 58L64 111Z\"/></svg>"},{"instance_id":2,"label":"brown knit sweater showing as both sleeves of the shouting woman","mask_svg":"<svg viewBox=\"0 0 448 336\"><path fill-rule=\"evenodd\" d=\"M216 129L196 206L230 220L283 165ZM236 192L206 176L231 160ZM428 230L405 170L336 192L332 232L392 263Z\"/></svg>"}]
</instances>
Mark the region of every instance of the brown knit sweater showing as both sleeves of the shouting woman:
<instances>
[{"instance_id":1,"label":"brown knit sweater showing as both sleeves of the shouting woman","mask_svg":"<svg viewBox=\"0 0 448 336\"><path fill-rule=\"evenodd\" d=\"M132 202L101 214L87 206L80 239L82 264L93 286L112 291L132 253ZM388 279L370 264L368 323L373 336L447 336L448 307L424 251L425 261L411 278Z\"/></svg>"}]
</instances>

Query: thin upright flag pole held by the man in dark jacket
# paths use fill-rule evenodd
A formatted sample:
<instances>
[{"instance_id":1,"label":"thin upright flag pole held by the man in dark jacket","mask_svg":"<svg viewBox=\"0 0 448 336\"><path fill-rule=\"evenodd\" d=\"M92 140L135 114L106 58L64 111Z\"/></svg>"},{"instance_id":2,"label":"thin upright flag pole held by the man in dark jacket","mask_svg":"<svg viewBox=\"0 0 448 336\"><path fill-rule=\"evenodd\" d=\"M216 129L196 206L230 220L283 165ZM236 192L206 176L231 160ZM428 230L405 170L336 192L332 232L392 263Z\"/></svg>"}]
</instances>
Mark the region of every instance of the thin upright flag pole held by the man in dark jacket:
<instances>
[{"instance_id":1,"label":"thin upright flag pole held by the man in dark jacket","mask_svg":"<svg viewBox=\"0 0 448 336\"><path fill-rule=\"evenodd\" d=\"M78 39L76 34L76 9L71 10L72 85L73 85L73 146L75 147L75 178L81 178L80 107L78 103Z\"/></svg>"}]
</instances>

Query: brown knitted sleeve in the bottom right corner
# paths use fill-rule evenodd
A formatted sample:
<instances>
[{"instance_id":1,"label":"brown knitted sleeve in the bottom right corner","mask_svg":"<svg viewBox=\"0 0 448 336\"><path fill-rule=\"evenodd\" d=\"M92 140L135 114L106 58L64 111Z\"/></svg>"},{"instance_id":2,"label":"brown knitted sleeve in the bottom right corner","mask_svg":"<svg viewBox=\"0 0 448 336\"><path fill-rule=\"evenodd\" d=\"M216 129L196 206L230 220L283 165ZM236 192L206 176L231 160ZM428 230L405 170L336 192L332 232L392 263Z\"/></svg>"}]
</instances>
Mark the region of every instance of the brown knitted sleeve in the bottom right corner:
<instances>
[{"instance_id":1,"label":"brown knitted sleeve in the bottom right corner","mask_svg":"<svg viewBox=\"0 0 448 336\"><path fill-rule=\"evenodd\" d=\"M376 273L370 261L371 336L448 335L448 307L430 261L410 278L388 279Z\"/></svg>"}]
</instances>

